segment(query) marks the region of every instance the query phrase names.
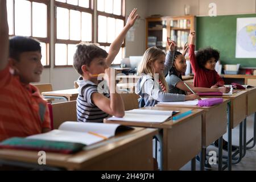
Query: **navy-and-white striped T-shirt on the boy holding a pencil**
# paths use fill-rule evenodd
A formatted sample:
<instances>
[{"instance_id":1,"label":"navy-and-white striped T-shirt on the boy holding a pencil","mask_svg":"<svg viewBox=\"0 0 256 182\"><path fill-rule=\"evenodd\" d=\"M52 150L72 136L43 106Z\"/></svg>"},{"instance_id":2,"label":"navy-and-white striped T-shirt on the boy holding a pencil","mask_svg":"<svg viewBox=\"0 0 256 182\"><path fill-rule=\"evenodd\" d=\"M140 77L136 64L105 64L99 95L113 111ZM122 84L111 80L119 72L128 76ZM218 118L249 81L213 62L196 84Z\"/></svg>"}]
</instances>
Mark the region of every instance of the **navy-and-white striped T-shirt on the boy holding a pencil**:
<instances>
[{"instance_id":1,"label":"navy-and-white striped T-shirt on the boy holding a pencil","mask_svg":"<svg viewBox=\"0 0 256 182\"><path fill-rule=\"evenodd\" d=\"M82 80L82 77L77 81L79 84L79 96L77 97L76 102L76 111L77 111L77 121L79 122L103 122L103 119L108 117L104 111L98 108L92 101L92 94L99 92L100 89L102 94L105 97L110 97L109 93L106 93L106 90L98 87L89 80Z\"/></svg>"}]
</instances>

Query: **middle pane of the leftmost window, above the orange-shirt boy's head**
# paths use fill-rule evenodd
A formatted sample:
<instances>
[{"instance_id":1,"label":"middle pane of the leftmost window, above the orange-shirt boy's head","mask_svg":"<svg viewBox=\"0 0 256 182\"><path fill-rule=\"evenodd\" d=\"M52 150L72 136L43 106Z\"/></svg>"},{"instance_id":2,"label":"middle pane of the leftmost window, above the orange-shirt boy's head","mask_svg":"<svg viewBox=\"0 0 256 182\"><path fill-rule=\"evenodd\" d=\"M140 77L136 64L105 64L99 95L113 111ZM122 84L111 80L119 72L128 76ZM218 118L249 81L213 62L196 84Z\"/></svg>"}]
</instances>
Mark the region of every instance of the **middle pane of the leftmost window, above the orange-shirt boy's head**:
<instances>
[{"instance_id":1,"label":"middle pane of the leftmost window, above the orange-shirt boy's head","mask_svg":"<svg viewBox=\"0 0 256 182\"><path fill-rule=\"evenodd\" d=\"M15 35L31 36L31 2L15 0Z\"/></svg>"}]
</instances>

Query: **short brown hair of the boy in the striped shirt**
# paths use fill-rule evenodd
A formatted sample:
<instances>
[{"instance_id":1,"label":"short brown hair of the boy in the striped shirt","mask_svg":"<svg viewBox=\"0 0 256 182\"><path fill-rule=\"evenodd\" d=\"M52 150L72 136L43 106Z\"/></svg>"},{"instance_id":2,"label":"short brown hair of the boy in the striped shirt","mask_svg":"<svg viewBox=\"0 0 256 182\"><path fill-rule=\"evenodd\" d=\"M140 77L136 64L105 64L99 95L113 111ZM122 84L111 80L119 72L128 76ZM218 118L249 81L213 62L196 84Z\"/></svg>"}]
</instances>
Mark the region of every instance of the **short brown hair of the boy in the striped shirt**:
<instances>
[{"instance_id":1,"label":"short brown hair of the boy in the striped shirt","mask_svg":"<svg viewBox=\"0 0 256 182\"><path fill-rule=\"evenodd\" d=\"M77 45L76 53L74 55L73 67L80 75L82 75L82 65L90 66L90 63L94 58L106 58L107 56L108 52L98 47L96 44L80 43Z\"/></svg>"}]
</instances>

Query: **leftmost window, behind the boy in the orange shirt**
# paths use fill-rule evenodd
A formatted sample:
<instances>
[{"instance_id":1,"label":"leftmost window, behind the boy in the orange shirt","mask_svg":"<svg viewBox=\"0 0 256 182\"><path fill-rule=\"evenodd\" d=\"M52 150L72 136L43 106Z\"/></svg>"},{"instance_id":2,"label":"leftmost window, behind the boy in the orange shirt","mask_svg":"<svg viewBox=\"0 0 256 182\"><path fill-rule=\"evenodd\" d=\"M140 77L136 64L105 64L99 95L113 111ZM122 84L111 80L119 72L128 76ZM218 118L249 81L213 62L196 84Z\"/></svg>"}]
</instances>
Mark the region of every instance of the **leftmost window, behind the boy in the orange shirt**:
<instances>
[{"instance_id":1,"label":"leftmost window, behind the boy in the orange shirt","mask_svg":"<svg viewBox=\"0 0 256 182\"><path fill-rule=\"evenodd\" d=\"M49 0L8 0L9 35L30 36L42 47L42 64L49 67Z\"/></svg>"}]
</instances>

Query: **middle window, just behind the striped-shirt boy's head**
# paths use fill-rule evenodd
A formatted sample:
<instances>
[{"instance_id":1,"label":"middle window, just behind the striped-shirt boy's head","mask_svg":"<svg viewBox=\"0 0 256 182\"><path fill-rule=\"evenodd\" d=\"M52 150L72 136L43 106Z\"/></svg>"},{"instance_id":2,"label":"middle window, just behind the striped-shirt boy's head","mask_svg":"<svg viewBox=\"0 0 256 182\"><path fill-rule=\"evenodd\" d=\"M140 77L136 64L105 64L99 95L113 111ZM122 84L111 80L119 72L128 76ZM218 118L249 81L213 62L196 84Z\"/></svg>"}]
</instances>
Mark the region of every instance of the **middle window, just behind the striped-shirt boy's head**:
<instances>
[{"instance_id":1,"label":"middle window, just behind the striped-shirt boy's head","mask_svg":"<svg viewBox=\"0 0 256 182\"><path fill-rule=\"evenodd\" d=\"M76 44L93 42L93 9L90 0L55 1L55 66L73 65Z\"/></svg>"}]
</instances>

